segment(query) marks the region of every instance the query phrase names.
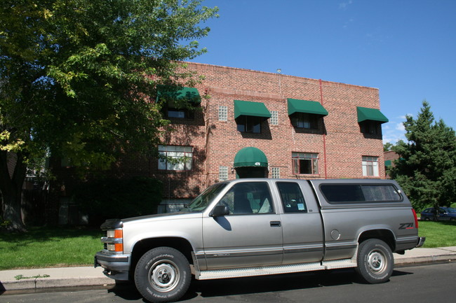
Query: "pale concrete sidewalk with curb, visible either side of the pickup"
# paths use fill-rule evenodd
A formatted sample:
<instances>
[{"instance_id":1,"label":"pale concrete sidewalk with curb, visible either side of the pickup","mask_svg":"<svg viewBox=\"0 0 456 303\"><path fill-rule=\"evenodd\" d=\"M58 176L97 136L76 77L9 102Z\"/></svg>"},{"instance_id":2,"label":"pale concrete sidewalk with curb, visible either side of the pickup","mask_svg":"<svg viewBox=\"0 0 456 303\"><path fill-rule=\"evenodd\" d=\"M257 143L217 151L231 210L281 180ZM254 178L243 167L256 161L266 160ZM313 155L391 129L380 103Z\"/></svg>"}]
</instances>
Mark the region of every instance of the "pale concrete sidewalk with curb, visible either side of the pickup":
<instances>
[{"instance_id":1,"label":"pale concrete sidewalk with curb, visible either side of the pickup","mask_svg":"<svg viewBox=\"0 0 456 303\"><path fill-rule=\"evenodd\" d=\"M414 248L405 255L394 254L395 265L414 265L427 262L456 260L456 246L442 248ZM22 275L22 279L16 276ZM61 267L14 269L0 271L0 294L6 290L34 290L72 286L106 286L114 280L103 274L101 267Z\"/></svg>"}]
</instances>

